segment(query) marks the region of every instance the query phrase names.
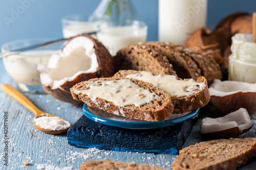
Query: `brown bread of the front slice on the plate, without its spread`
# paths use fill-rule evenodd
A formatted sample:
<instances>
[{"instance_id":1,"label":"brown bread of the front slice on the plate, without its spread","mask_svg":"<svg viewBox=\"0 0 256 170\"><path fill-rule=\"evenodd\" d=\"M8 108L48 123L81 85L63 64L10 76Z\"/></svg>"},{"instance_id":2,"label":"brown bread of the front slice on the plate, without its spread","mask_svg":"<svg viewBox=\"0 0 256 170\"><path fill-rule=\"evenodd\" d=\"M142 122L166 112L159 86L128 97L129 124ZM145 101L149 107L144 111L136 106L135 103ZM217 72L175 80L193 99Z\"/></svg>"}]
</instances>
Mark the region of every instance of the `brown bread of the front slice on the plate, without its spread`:
<instances>
[{"instance_id":1,"label":"brown bread of the front slice on the plate, without its spread","mask_svg":"<svg viewBox=\"0 0 256 170\"><path fill-rule=\"evenodd\" d=\"M121 78L124 79L124 78ZM89 81L111 81L111 80L121 80L120 78L96 78ZM155 92L158 99L154 99L150 103L144 104L140 107L135 105L128 106L117 106L113 102L106 101L100 97L96 98L95 101L92 101L88 95L78 94L76 95L73 92L73 89L77 90L86 90L89 89L88 81L80 82L73 86L70 91L75 100L81 100L86 103L88 106L93 108L99 108L109 113L117 113L120 115L123 113L126 117L131 117L135 119L148 120L148 121L159 121L167 118L174 110L172 100L168 93L165 93L164 90L159 90L158 87L153 86L151 83L147 83L140 80L130 79L133 83L137 84L139 87L148 89L150 92ZM136 96L135 96L136 97Z\"/></svg>"}]
</instances>

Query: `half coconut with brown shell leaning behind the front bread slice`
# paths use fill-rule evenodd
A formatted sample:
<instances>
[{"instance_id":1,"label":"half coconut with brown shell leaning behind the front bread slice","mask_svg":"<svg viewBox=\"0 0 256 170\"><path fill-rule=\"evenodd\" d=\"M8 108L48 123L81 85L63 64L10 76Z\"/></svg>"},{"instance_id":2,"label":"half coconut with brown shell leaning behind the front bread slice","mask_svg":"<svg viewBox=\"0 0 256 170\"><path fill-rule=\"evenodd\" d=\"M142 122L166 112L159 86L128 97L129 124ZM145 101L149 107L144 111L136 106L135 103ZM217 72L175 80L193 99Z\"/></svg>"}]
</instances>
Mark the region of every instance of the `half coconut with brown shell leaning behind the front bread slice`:
<instances>
[{"instance_id":1,"label":"half coconut with brown shell leaning behind the front bread slice","mask_svg":"<svg viewBox=\"0 0 256 170\"><path fill-rule=\"evenodd\" d=\"M49 59L48 65L37 65L42 87L54 98L79 105L70 88L75 84L114 75L113 58L104 45L89 35L70 39L62 51Z\"/></svg>"}]
</instances>

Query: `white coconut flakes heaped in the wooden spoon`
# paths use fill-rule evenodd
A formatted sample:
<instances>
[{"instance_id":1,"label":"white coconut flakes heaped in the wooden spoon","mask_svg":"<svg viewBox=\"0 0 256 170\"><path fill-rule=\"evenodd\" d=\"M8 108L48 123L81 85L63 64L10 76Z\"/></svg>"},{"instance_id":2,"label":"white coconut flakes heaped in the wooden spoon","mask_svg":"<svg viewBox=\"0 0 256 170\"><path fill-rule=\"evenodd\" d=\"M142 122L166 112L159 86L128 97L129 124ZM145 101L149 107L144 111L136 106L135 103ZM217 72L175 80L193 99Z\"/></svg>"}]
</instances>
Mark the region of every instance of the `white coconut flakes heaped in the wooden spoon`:
<instances>
[{"instance_id":1,"label":"white coconut flakes heaped in the wooden spoon","mask_svg":"<svg viewBox=\"0 0 256 170\"><path fill-rule=\"evenodd\" d=\"M34 118L35 125L40 128L49 129L49 130L62 130L69 128L71 124L67 120L60 119L59 117L53 116L41 116Z\"/></svg>"}]
</instances>

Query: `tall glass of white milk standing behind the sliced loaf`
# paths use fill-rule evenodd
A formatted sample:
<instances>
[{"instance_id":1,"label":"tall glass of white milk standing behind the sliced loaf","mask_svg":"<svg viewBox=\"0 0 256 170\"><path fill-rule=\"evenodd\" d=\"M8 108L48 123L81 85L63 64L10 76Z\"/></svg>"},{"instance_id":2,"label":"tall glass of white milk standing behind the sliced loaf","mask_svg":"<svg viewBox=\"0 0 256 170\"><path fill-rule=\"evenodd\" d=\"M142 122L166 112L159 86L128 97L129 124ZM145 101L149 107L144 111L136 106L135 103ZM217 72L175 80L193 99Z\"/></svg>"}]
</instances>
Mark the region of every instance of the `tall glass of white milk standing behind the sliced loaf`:
<instances>
[{"instance_id":1,"label":"tall glass of white milk standing behind the sliced loaf","mask_svg":"<svg viewBox=\"0 0 256 170\"><path fill-rule=\"evenodd\" d=\"M185 44L197 29L206 26L207 0L159 0L158 39Z\"/></svg>"}]
</instances>

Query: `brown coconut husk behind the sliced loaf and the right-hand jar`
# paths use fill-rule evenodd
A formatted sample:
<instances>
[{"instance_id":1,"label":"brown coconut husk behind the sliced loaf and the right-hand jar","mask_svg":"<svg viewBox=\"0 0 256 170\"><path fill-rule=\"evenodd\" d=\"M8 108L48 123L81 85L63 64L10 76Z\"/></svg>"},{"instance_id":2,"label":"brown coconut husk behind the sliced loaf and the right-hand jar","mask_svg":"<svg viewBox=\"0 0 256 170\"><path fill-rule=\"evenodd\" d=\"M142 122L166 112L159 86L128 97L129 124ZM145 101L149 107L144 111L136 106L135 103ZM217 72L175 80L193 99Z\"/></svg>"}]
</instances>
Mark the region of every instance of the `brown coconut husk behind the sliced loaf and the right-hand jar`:
<instances>
[{"instance_id":1,"label":"brown coconut husk behind the sliced loaf and the right-hand jar","mask_svg":"<svg viewBox=\"0 0 256 170\"><path fill-rule=\"evenodd\" d=\"M214 31L200 28L185 46L203 54L211 54L220 65L223 79L227 78L231 37L236 33L252 33L252 16L246 12L233 13L222 19Z\"/></svg>"}]
</instances>

